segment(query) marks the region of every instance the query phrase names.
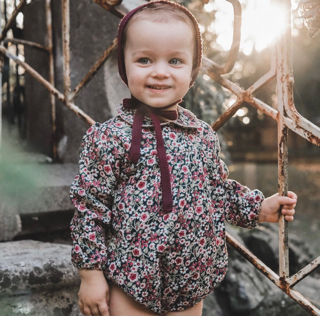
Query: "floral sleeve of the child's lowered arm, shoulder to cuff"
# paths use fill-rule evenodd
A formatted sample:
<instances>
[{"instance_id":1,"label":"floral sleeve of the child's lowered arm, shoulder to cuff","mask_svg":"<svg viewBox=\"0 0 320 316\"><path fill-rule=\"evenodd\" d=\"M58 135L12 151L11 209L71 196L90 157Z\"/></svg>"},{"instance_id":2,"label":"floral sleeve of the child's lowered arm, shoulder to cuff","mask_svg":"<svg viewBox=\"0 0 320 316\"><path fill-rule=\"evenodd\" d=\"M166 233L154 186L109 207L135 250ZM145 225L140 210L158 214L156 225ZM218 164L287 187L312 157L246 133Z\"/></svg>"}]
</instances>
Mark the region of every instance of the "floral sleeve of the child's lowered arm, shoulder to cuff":
<instances>
[{"instance_id":1,"label":"floral sleeve of the child's lowered arm, shoulder to cuff","mask_svg":"<svg viewBox=\"0 0 320 316\"><path fill-rule=\"evenodd\" d=\"M120 147L116 135L99 123L91 126L82 139L79 172L70 190L70 199L76 207L70 226L72 263L76 268L105 268L104 227L112 220Z\"/></svg>"}]
</instances>

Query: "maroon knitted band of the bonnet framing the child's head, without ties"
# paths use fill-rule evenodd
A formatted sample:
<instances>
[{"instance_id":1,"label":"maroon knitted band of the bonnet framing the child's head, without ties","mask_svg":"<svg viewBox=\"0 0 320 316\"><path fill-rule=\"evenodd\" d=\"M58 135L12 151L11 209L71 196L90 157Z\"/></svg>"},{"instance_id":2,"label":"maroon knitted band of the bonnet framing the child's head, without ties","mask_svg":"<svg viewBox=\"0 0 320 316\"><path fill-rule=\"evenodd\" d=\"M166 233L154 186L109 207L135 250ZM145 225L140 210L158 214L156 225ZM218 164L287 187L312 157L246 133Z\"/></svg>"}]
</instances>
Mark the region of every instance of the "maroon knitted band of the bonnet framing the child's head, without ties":
<instances>
[{"instance_id":1,"label":"maroon knitted band of the bonnet framing the child's head, without ties","mask_svg":"<svg viewBox=\"0 0 320 316\"><path fill-rule=\"evenodd\" d=\"M140 9L150 6L151 4L154 3L163 3L163 4L169 4L172 6L175 6L177 8L180 9L180 11L184 12L190 19L190 21L192 22L194 29L195 29L195 33L196 33L196 66L192 71L192 78L191 78L191 82L190 82L190 87L193 85L193 83L196 80L196 77L199 73L200 67L201 67L201 62L202 62L202 37L201 37L201 32L199 29L199 25L198 22L196 20L196 18L194 17L194 15L188 10L186 9L184 6L177 4L175 2L171 2L171 1L167 1L167 0L158 0L158 1L151 1L148 2L146 4L142 4L139 7L133 9L132 11L128 12L121 20L120 24L119 24L119 29L118 29L118 69L119 69L119 74L120 77L122 79L122 81L125 83L125 85L128 85L128 79L127 79L127 75L125 72L125 65L124 65L124 51L123 51L123 35L124 35L124 30L126 25L128 24L128 21L132 18L132 16L139 12Z\"/></svg>"}]
</instances>

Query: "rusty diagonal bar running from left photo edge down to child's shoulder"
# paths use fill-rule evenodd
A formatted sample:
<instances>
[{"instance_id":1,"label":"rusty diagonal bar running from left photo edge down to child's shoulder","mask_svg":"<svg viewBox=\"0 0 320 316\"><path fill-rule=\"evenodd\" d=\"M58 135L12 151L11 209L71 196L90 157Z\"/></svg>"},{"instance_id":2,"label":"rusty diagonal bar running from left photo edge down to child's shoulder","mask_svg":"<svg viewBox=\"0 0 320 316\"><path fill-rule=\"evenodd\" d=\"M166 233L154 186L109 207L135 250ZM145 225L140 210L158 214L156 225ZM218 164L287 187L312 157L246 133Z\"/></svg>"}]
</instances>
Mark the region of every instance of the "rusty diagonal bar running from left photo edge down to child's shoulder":
<instances>
[{"instance_id":1,"label":"rusty diagonal bar running from left photo edge down to child's shoulder","mask_svg":"<svg viewBox=\"0 0 320 316\"><path fill-rule=\"evenodd\" d=\"M64 95L59 90L57 90L49 81L45 80L44 77L37 73L35 69L33 69L26 62L21 61L18 56L9 53L3 45L0 45L0 52L6 55L8 58L11 58L14 62L19 64L23 69L25 69L32 77L39 81L46 89L49 90L50 93L54 94L59 101L65 104L84 122L86 122L89 125L95 123L95 121L89 115L87 115L83 110L79 109L74 103L66 101Z\"/></svg>"}]
</instances>

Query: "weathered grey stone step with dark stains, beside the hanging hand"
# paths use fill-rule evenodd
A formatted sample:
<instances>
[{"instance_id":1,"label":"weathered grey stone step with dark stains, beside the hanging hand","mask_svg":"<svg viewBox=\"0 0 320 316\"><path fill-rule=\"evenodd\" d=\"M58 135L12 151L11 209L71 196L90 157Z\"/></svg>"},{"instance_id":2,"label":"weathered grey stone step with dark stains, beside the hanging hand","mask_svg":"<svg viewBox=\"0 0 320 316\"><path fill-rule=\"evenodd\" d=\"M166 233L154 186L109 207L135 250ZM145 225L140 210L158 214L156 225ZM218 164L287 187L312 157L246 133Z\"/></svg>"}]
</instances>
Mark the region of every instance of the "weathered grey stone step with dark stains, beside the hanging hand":
<instances>
[{"instance_id":1,"label":"weathered grey stone step with dark stains, beside the hanging hand","mask_svg":"<svg viewBox=\"0 0 320 316\"><path fill-rule=\"evenodd\" d=\"M71 246L34 240L0 243L0 316L80 316L80 280Z\"/></svg>"}]
</instances>

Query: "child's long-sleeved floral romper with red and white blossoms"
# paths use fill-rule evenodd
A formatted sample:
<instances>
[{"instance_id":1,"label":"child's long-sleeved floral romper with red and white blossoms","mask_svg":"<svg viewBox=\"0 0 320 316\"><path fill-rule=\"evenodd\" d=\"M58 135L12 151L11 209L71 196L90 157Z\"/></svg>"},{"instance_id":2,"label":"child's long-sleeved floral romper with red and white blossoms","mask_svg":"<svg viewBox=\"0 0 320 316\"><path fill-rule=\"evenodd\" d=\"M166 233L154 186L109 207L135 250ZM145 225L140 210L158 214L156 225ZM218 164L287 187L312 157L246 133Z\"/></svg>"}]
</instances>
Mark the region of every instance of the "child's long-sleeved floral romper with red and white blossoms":
<instances>
[{"instance_id":1,"label":"child's long-sleeved floral romper with red and white blossoms","mask_svg":"<svg viewBox=\"0 0 320 316\"><path fill-rule=\"evenodd\" d=\"M145 117L141 156L128 161L135 110L90 127L82 139L70 197L77 268L100 269L108 281L163 315L192 307L223 279L224 221L252 228L263 195L228 180L216 133L178 107L162 122L173 210L161 211L160 170L152 122Z\"/></svg>"}]
</instances>

